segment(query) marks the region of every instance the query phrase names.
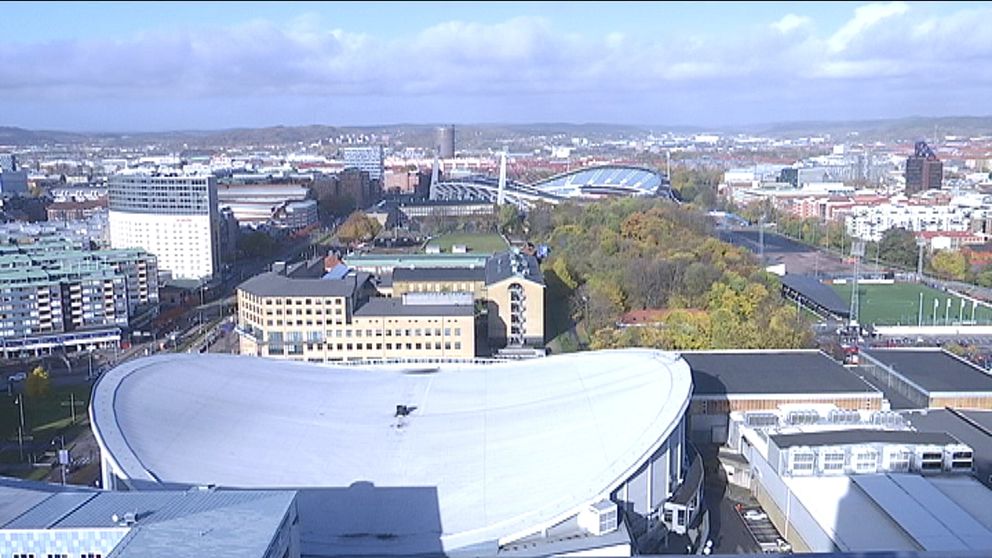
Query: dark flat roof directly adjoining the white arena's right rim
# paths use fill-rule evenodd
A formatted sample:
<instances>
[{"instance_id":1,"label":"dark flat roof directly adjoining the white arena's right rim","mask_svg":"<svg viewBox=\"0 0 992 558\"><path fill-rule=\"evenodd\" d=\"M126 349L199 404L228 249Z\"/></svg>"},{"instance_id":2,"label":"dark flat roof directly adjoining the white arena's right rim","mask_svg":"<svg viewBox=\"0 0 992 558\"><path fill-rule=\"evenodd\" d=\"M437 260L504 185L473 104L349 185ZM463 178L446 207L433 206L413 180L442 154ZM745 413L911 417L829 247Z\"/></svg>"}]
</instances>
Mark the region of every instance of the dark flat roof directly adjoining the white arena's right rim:
<instances>
[{"instance_id":1,"label":"dark flat roof directly adjoining the white arena's right rim","mask_svg":"<svg viewBox=\"0 0 992 558\"><path fill-rule=\"evenodd\" d=\"M816 350L684 352L693 395L860 394L875 388Z\"/></svg>"}]
</instances>

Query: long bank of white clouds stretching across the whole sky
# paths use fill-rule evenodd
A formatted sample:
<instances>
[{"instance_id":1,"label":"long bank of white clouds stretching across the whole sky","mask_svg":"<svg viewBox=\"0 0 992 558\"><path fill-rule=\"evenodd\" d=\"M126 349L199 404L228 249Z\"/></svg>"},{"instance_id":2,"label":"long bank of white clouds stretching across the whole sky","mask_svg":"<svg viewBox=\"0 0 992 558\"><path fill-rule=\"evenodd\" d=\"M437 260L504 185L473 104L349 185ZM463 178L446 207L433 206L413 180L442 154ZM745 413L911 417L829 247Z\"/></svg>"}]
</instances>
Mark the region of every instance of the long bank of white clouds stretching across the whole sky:
<instances>
[{"instance_id":1,"label":"long bank of white clouds stretching across the whole sky","mask_svg":"<svg viewBox=\"0 0 992 558\"><path fill-rule=\"evenodd\" d=\"M0 42L0 98L609 99L678 90L694 102L731 106L716 99L786 90L814 98L828 82L831 91L850 82L856 98L868 81L885 91L887 80L914 77L900 82L907 95L937 95L934 84L989 85L992 26L984 22L992 10L900 17L908 11L899 2L864 5L832 33L790 13L717 37L579 32L527 17L450 21L400 40L301 16L285 25L258 20L114 40Z\"/></svg>"}]
</instances>

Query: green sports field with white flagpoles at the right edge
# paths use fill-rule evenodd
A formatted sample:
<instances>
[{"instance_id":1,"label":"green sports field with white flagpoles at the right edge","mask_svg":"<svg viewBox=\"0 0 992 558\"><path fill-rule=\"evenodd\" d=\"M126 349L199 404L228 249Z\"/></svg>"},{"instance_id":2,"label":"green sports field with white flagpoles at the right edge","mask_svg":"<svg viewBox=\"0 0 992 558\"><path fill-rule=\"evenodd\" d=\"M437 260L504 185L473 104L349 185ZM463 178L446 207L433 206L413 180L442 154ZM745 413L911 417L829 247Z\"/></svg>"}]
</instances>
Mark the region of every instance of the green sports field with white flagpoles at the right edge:
<instances>
[{"instance_id":1,"label":"green sports field with white flagpoles at the right edge","mask_svg":"<svg viewBox=\"0 0 992 558\"><path fill-rule=\"evenodd\" d=\"M840 295L841 300L851 303L851 285L831 285ZM917 325L920 313L920 293L923 293L923 325L934 325L934 300L937 301L936 325L949 325L958 322L958 316L963 316L964 322L971 320L971 302L964 302L964 312L960 312L961 299L949 294L915 283L895 283L893 285L860 285L860 322L875 325ZM948 312L947 299L951 300ZM944 316L948 317L947 321ZM960 312L960 314L959 314ZM992 309L979 305L975 309L975 322L982 325L992 324Z\"/></svg>"}]
</instances>

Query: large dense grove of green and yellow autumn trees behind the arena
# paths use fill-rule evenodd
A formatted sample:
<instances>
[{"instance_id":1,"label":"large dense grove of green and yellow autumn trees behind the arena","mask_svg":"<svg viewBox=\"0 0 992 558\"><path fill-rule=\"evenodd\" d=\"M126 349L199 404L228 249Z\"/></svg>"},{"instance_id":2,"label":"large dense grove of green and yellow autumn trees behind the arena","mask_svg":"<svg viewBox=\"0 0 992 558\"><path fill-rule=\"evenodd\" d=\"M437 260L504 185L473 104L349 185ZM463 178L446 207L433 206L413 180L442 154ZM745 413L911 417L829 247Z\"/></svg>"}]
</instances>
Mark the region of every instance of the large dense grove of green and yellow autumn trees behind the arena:
<instances>
[{"instance_id":1,"label":"large dense grove of green and yellow autumn trees behind the arena","mask_svg":"<svg viewBox=\"0 0 992 558\"><path fill-rule=\"evenodd\" d=\"M712 234L703 213L656 199L565 203L524 227L551 248L549 305L567 305L593 348L792 348L812 342L778 279ZM617 326L629 310L664 309L657 327ZM555 309L549 309L554 311ZM558 309L560 310L560 309Z\"/></svg>"}]
</instances>

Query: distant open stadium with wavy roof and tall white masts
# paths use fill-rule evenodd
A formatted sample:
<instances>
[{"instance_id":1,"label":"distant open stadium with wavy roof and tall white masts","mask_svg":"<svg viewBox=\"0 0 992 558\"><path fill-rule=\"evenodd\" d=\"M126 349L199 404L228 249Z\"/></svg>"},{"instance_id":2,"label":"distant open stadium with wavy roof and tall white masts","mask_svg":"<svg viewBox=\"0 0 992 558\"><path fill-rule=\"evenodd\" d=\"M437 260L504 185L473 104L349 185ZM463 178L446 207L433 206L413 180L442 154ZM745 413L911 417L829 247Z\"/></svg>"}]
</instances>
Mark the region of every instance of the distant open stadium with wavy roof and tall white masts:
<instances>
[{"instance_id":1,"label":"distant open stadium with wavy roof and tall white masts","mask_svg":"<svg viewBox=\"0 0 992 558\"><path fill-rule=\"evenodd\" d=\"M445 180L435 184L432 192L432 199L496 203L499 199L499 179L477 175ZM587 167L532 184L507 180L503 192L506 202L522 209L538 202L556 204L569 199L590 200L626 196L658 196L674 199L671 184L664 174L627 165Z\"/></svg>"}]
</instances>

